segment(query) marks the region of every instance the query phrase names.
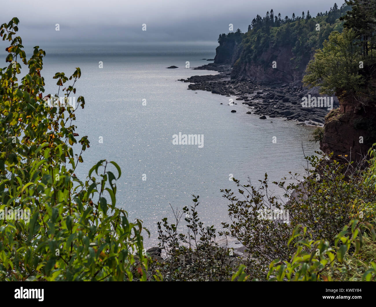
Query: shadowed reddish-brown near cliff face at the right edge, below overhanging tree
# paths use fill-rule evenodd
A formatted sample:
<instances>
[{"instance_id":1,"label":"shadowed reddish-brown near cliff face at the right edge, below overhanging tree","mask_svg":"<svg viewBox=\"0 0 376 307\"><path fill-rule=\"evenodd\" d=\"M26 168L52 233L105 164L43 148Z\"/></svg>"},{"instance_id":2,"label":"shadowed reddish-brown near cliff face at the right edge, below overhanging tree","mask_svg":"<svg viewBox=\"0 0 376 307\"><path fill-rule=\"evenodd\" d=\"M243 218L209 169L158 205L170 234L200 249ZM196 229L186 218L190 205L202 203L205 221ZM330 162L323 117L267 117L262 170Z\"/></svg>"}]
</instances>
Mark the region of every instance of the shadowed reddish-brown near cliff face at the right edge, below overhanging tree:
<instances>
[{"instance_id":1,"label":"shadowed reddish-brown near cliff face at the right edge, below overhanging tree","mask_svg":"<svg viewBox=\"0 0 376 307\"><path fill-rule=\"evenodd\" d=\"M326 117L320 149L333 159L360 161L376 142L376 104L360 99L340 99L340 108Z\"/></svg>"}]
</instances>

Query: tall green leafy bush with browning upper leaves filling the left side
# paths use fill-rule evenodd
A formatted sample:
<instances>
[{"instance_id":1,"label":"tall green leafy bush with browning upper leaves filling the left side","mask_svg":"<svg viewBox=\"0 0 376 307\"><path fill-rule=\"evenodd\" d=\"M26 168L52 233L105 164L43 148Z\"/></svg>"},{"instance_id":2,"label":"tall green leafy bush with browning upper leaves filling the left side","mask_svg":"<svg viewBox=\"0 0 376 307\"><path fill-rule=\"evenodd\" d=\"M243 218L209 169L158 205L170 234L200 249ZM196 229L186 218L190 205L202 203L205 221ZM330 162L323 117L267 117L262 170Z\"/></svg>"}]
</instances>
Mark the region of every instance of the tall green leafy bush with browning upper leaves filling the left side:
<instances>
[{"instance_id":1,"label":"tall green leafy bush with browning upper leaves filling the left side","mask_svg":"<svg viewBox=\"0 0 376 307\"><path fill-rule=\"evenodd\" d=\"M86 136L78 141L80 155L71 147L78 136L75 111L85 100L79 96L76 109L45 105L45 52L36 46L27 60L14 37L18 23L13 18L0 27L10 43L10 64L0 69L0 209L22 209L30 221L0 219L0 280L146 280L141 221L130 223L115 207L120 168L101 160L86 181L74 174L89 147ZM27 74L19 81L22 63ZM76 93L80 76L79 68L70 77L56 73L57 95Z\"/></svg>"}]
</instances>

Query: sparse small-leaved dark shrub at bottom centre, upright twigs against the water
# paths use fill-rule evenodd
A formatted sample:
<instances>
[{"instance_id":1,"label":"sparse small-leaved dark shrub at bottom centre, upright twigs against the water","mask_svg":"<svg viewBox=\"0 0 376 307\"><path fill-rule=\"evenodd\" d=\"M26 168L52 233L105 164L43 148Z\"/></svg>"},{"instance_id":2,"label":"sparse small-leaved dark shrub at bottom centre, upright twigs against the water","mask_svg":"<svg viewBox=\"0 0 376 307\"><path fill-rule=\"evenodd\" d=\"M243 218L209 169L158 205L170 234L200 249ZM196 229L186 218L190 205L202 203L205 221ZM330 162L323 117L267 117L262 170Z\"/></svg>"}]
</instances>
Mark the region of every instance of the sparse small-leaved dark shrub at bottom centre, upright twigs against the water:
<instances>
[{"instance_id":1,"label":"sparse small-leaved dark shrub at bottom centre, upright twigs against the water","mask_svg":"<svg viewBox=\"0 0 376 307\"><path fill-rule=\"evenodd\" d=\"M167 258L157 263L155 269L167 281L223 281L229 280L239 259L227 246L220 246L213 226L204 226L200 221L197 206L199 196L193 195L194 205L174 211L174 223L167 218L158 222L159 245ZM177 233L184 216L187 232Z\"/></svg>"}]
</instances>

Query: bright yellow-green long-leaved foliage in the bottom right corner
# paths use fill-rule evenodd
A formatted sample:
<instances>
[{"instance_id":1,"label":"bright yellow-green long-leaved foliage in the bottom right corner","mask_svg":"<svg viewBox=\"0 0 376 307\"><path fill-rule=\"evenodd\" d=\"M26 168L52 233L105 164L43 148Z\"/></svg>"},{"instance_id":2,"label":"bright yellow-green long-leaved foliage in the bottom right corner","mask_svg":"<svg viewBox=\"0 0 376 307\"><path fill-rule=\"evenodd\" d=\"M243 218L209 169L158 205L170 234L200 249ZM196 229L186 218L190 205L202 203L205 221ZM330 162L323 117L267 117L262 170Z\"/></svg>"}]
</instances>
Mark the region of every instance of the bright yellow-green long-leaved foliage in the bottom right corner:
<instances>
[{"instance_id":1,"label":"bright yellow-green long-leaved foliage in the bottom right corner","mask_svg":"<svg viewBox=\"0 0 376 307\"><path fill-rule=\"evenodd\" d=\"M362 230L370 231L373 242L376 233L369 223L352 220L334 237L334 246L323 239L313 240L307 227L297 225L288 244L294 243L296 251L290 261L273 260L269 266L268 278L271 281L333 281L331 274L335 264L343 263L344 257L353 250L352 256L359 253L362 247ZM374 280L376 265L371 262L370 268L362 275L362 280Z\"/></svg>"}]
</instances>

